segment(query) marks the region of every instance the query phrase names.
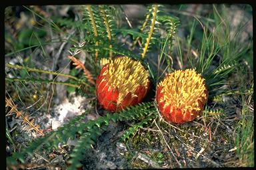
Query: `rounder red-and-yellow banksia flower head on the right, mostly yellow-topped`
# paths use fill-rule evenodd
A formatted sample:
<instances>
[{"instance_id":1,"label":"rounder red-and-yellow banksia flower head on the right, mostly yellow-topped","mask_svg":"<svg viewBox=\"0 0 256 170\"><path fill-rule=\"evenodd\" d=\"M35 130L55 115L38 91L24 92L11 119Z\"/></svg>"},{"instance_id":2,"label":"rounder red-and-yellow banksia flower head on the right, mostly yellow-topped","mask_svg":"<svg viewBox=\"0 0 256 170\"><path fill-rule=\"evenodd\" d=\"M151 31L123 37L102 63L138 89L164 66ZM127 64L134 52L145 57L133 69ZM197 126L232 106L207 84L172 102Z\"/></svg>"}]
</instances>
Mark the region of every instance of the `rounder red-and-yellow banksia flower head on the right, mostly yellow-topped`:
<instances>
[{"instance_id":1,"label":"rounder red-and-yellow banksia flower head on the right, mostly yellow-topped","mask_svg":"<svg viewBox=\"0 0 256 170\"><path fill-rule=\"evenodd\" d=\"M168 122L183 124L201 114L208 91L204 79L195 70L176 70L157 86L156 100Z\"/></svg>"}]
</instances>

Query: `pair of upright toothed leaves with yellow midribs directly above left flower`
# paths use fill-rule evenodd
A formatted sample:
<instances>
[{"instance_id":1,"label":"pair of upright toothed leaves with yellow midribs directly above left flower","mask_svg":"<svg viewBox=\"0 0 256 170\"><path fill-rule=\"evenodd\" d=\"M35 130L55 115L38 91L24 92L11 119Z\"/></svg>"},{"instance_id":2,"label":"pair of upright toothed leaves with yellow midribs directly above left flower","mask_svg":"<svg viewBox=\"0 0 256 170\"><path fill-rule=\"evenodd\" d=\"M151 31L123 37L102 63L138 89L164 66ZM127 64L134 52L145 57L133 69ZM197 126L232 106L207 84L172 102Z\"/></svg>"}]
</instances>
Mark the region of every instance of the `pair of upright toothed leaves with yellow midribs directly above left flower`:
<instances>
[{"instance_id":1,"label":"pair of upright toothed leaves with yellow midribs directly above left flower","mask_svg":"<svg viewBox=\"0 0 256 170\"><path fill-rule=\"evenodd\" d=\"M85 19L85 50L90 50L90 47L95 46L101 48L95 50L95 58L97 59L107 57L108 51L105 48L109 48L111 44L116 44L115 42L115 25L113 23L115 16L110 15L115 10L114 7L109 7L106 5L86 5L83 7L83 15ZM105 43L107 42L107 43ZM111 54L109 54L111 56Z\"/></svg>"}]
</instances>

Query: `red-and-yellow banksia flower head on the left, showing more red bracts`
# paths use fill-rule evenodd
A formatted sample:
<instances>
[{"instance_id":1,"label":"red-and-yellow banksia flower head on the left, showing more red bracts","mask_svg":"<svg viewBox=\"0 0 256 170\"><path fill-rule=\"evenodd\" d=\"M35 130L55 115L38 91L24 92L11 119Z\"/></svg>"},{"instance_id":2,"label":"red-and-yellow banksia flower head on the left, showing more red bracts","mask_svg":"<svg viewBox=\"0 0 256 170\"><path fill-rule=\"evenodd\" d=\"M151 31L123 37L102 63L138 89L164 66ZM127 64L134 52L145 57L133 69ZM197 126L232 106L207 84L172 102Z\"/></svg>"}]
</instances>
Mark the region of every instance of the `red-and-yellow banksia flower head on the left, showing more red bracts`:
<instances>
[{"instance_id":1,"label":"red-and-yellow banksia flower head on the left, showing more red bracts","mask_svg":"<svg viewBox=\"0 0 256 170\"><path fill-rule=\"evenodd\" d=\"M117 112L143 100L149 90L149 72L127 56L101 59L96 94L105 110Z\"/></svg>"}]
</instances>

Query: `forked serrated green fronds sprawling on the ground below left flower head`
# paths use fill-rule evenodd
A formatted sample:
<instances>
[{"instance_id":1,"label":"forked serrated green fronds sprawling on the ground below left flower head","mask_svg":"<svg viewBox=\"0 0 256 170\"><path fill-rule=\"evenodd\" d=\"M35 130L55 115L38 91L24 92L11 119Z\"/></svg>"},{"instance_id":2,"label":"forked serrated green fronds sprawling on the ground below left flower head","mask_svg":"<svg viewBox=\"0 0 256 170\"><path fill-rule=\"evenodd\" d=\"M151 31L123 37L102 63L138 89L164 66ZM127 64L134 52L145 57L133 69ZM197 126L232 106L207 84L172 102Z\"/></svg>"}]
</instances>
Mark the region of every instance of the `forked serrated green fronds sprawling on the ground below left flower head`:
<instances>
[{"instance_id":1,"label":"forked serrated green fronds sprawling on the ground below left flower head","mask_svg":"<svg viewBox=\"0 0 256 170\"><path fill-rule=\"evenodd\" d=\"M71 153L71 159L69 160L69 163L71 163L69 169L73 169L81 164L79 163L82 159L81 155L85 153L90 145L95 144L97 137L103 133L111 121L128 121L142 118L154 111L150 109L152 107L153 102L145 102L143 104L138 104L137 106L131 106L120 113L107 114L107 116L100 117L97 120L83 122L85 114L87 114L85 112L81 116L77 116L69 121L65 126L58 128L57 131L53 131L52 133L45 135L45 137L35 139L35 141L32 141L28 147L21 149L20 153L14 153L12 157L7 157L7 164L15 164L15 159L24 163L25 155L33 155L35 149L39 150L41 147L47 150L53 149L53 147L58 148L60 144L65 144L69 137L75 139L75 136L79 134L80 138L77 141L78 144L73 150L73 153Z\"/></svg>"}]
</instances>

